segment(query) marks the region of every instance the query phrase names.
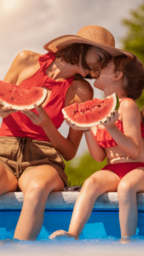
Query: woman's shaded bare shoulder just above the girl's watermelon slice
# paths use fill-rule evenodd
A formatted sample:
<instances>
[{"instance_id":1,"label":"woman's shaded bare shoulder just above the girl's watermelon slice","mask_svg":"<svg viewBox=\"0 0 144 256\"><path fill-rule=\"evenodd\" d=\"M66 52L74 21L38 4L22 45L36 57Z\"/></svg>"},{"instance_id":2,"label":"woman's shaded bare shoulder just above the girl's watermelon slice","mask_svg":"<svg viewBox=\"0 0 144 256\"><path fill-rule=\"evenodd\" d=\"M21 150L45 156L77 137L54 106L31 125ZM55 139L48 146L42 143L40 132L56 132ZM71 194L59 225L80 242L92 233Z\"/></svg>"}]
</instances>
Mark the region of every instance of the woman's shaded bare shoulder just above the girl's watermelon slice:
<instances>
[{"instance_id":1,"label":"woman's shaded bare shoulder just above the girl's watermelon slice","mask_svg":"<svg viewBox=\"0 0 144 256\"><path fill-rule=\"evenodd\" d=\"M82 102L93 99L94 90L89 82L84 79L74 80L72 82L72 90L81 98Z\"/></svg>"}]
</instances>

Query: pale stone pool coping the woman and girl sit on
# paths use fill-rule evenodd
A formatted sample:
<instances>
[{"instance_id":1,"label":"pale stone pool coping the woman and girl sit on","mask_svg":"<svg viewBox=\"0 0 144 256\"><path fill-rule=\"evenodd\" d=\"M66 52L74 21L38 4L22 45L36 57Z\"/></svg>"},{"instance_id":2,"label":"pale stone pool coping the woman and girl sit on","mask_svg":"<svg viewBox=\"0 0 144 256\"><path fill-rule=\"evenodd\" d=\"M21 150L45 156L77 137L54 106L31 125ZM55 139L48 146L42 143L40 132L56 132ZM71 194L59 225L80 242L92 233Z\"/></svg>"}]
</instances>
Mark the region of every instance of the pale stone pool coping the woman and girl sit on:
<instances>
[{"instance_id":1,"label":"pale stone pool coping the woman and girl sit on","mask_svg":"<svg viewBox=\"0 0 144 256\"><path fill-rule=\"evenodd\" d=\"M79 192L52 192L46 201L45 210L72 210L78 198ZM144 210L144 193L137 193L137 205L139 210ZM20 210L24 201L22 192L10 192L0 196L1 210ZM94 210L118 209L118 193L109 192L97 198Z\"/></svg>"}]
</instances>

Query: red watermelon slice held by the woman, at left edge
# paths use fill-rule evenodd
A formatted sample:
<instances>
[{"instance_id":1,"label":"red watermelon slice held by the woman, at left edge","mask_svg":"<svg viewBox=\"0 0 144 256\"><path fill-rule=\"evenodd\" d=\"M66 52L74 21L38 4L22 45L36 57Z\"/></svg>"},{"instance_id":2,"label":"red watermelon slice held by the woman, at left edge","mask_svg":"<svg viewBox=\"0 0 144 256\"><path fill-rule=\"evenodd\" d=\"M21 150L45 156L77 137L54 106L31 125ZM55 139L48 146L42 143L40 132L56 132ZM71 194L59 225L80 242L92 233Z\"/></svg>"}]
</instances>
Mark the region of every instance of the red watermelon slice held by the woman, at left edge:
<instances>
[{"instance_id":1,"label":"red watermelon slice held by the woman, at left edge","mask_svg":"<svg viewBox=\"0 0 144 256\"><path fill-rule=\"evenodd\" d=\"M32 109L33 104L41 105L47 96L47 90L33 87L32 90L21 89L18 85L0 81L0 104L13 109Z\"/></svg>"}]
</instances>

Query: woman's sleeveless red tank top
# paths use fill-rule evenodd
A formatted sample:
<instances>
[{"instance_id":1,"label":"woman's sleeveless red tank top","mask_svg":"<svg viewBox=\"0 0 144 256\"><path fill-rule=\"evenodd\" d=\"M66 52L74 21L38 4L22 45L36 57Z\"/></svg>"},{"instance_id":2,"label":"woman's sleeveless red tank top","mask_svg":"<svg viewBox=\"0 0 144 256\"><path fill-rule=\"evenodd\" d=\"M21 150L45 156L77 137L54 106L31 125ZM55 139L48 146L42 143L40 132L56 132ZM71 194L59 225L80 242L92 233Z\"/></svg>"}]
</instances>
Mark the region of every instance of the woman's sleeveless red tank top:
<instances>
[{"instance_id":1,"label":"woman's sleeveless red tank top","mask_svg":"<svg viewBox=\"0 0 144 256\"><path fill-rule=\"evenodd\" d=\"M49 52L46 55L41 55L39 57L40 68L37 70L37 73L21 82L18 86L26 90L31 90L32 87L42 86L52 90L49 102L44 109L58 129L64 120L61 109L65 108L66 90L72 84L74 77L64 81L50 79L46 74L46 70L54 60L55 53ZM37 113L35 109L32 109L32 112ZM7 118L3 119L0 128L0 137L30 137L35 140L49 141L43 128L34 125L32 121L24 113L20 113L20 111L12 113Z\"/></svg>"}]
</instances>

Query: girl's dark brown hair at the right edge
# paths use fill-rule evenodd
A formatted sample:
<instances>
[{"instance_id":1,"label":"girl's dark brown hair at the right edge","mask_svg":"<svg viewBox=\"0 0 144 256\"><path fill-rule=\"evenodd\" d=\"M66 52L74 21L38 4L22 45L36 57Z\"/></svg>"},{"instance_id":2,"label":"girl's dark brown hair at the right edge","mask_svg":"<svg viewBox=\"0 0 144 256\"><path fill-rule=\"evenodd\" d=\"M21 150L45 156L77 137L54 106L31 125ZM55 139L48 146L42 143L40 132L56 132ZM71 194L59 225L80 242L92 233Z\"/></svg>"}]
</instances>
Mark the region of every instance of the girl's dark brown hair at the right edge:
<instances>
[{"instance_id":1,"label":"girl's dark brown hair at the right edge","mask_svg":"<svg viewBox=\"0 0 144 256\"><path fill-rule=\"evenodd\" d=\"M144 66L135 56L128 58L126 55L120 55L114 58L115 70L124 73L125 83L124 92L127 97L137 100L141 97L144 89ZM144 121L144 108L142 109L142 121Z\"/></svg>"}]
</instances>

